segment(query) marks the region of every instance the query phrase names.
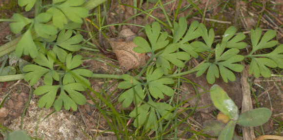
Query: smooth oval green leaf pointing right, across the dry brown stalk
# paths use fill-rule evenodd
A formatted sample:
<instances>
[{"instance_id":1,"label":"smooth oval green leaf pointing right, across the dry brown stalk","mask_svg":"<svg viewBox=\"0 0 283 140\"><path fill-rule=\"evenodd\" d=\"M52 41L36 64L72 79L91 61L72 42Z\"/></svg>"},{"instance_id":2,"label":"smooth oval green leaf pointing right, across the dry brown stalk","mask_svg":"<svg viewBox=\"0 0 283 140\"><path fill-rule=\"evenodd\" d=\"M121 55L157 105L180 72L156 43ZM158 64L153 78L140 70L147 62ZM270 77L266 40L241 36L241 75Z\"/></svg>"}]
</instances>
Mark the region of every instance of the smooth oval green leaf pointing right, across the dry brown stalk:
<instances>
[{"instance_id":1,"label":"smooth oval green leaf pointing right, across the dry brown stalk","mask_svg":"<svg viewBox=\"0 0 283 140\"><path fill-rule=\"evenodd\" d=\"M237 124L252 127L263 125L269 120L271 113L271 110L267 108L257 108L246 111L239 116Z\"/></svg>"}]
</instances>

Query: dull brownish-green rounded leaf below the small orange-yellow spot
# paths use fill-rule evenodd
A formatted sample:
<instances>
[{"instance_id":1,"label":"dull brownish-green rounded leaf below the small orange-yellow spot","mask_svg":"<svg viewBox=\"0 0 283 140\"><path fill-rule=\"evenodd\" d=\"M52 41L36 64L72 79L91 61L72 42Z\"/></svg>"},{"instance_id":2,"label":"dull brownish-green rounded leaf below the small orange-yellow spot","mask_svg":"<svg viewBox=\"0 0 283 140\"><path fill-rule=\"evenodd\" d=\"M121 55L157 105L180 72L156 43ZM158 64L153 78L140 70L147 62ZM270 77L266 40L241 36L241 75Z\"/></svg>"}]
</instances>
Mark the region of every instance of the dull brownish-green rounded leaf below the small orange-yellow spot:
<instances>
[{"instance_id":1,"label":"dull brownish-green rounded leaf below the small orange-yellow spot","mask_svg":"<svg viewBox=\"0 0 283 140\"><path fill-rule=\"evenodd\" d=\"M213 137L219 136L225 126L224 122L220 120L208 120L205 121L203 125L204 132Z\"/></svg>"}]
</instances>

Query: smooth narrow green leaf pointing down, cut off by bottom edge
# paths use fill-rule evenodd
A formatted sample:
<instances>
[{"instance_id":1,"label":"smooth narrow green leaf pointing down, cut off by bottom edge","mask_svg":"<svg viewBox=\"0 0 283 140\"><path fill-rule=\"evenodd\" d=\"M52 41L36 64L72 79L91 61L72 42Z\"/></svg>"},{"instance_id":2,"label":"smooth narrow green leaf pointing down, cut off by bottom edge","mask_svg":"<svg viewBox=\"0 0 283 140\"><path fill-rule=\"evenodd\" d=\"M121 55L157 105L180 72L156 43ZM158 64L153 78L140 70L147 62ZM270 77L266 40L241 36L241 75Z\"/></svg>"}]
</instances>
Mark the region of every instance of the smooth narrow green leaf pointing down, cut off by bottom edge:
<instances>
[{"instance_id":1,"label":"smooth narrow green leaf pointing down, cut off by bottom edge","mask_svg":"<svg viewBox=\"0 0 283 140\"><path fill-rule=\"evenodd\" d=\"M230 120L221 131L218 140L232 140L236 123L236 120Z\"/></svg>"}]
</instances>

